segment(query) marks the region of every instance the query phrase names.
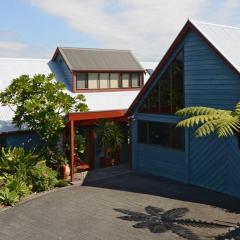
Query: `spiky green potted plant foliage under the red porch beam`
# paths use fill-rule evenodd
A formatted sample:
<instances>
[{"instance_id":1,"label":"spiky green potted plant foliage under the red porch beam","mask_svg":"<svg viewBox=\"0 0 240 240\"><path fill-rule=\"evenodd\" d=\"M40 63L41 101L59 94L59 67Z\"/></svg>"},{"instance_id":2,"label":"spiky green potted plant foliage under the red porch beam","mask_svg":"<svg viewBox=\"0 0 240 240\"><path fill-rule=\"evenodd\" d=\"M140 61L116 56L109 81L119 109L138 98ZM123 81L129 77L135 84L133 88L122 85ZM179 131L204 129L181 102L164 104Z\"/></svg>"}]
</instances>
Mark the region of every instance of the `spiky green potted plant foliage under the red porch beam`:
<instances>
[{"instance_id":1,"label":"spiky green potted plant foliage under the red porch beam","mask_svg":"<svg viewBox=\"0 0 240 240\"><path fill-rule=\"evenodd\" d=\"M123 143L123 135L118 125L106 119L97 124L97 137L100 147L117 151Z\"/></svg>"}]
</instances>

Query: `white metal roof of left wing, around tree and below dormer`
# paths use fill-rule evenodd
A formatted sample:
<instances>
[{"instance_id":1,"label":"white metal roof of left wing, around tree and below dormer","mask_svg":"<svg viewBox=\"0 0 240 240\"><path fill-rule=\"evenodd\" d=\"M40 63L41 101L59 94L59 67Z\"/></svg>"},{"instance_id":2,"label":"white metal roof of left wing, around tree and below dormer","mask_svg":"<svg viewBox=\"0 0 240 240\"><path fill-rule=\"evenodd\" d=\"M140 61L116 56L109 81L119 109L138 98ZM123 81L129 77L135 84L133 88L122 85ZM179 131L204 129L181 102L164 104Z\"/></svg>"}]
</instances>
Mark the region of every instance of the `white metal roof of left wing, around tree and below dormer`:
<instances>
[{"instance_id":1,"label":"white metal roof of left wing, around tree and below dormer","mask_svg":"<svg viewBox=\"0 0 240 240\"><path fill-rule=\"evenodd\" d=\"M145 63L144 63L145 64ZM147 64L147 63L146 63ZM0 58L0 91L11 84L14 78L23 74L49 74L54 72L56 79L65 82L61 69L49 59ZM85 93L90 111L127 109L139 91ZM69 94L74 95L68 91ZM16 131L11 120L14 113L9 107L0 105L0 133Z\"/></svg>"}]
</instances>

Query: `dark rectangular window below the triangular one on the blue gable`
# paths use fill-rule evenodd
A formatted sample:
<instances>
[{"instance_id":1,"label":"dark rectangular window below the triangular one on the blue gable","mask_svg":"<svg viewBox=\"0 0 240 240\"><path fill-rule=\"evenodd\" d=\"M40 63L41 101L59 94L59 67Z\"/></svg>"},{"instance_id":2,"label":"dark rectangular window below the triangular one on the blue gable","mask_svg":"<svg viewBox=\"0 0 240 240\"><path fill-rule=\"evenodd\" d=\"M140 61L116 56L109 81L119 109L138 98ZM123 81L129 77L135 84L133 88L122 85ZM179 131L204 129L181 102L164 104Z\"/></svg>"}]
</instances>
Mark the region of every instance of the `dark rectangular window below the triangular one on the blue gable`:
<instances>
[{"instance_id":1,"label":"dark rectangular window below the triangular one on the blue gable","mask_svg":"<svg viewBox=\"0 0 240 240\"><path fill-rule=\"evenodd\" d=\"M184 131L171 123L138 121L138 142L184 151Z\"/></svg>"}]
</instances>

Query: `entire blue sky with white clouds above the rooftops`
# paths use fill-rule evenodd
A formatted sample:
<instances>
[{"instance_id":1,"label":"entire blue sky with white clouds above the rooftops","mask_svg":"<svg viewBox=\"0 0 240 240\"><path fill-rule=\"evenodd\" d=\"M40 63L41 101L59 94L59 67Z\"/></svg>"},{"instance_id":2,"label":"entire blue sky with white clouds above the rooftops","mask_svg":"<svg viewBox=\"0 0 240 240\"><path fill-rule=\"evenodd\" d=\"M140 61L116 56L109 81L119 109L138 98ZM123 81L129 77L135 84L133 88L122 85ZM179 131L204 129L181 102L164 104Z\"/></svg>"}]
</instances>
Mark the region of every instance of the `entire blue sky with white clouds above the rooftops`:
<instances>
[{"instance_id":1,"label":"entire blue sky with white clouds above the rooftops","mask_svg":"<svg viewBox=\"0 0 240 240\"><path fill-rule=\"evenodd\" d=\"M61 46L159 61L189 18L240 27L240 0L5 0L0 57L51 58Z\"/></svg>"}]
</instances>

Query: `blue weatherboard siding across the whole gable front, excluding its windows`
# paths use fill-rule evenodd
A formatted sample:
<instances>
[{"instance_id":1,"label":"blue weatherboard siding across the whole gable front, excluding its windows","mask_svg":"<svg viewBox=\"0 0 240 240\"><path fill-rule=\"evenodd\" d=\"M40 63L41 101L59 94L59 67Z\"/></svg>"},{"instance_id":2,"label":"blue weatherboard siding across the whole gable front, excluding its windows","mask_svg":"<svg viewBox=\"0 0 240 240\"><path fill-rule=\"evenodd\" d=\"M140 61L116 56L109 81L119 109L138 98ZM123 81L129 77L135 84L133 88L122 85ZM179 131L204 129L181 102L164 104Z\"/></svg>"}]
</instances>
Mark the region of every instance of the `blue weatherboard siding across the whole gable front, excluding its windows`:
<instances>
[{"instance_id":1,"label":"blue weatherboard siding across the whole gable front, excluding its windows","mask_svg":"<svg viewBox=\"0 0 240 240\"><path fill-rule=\"evenodd\" d=\"M185 106L234 109L240 100L240 77L195 32L189 31L173 56L184 48ZM168 64L169 64L168 63ZM168 65L167 64L167 65ZM167 67L167 66L166 66ZM165 69L166 69L165 67ZM159 73L158 79L164 70ZM154 87L149 87L146 96ZM145 96L145 97L146 97ZM185 153L137 143L137 121L177 122L173 116L138 113L132 121L133 168L240 197L240 150L235 137L194 137L185 132Z\"/></svg>"}]
</instances>

